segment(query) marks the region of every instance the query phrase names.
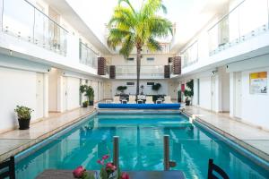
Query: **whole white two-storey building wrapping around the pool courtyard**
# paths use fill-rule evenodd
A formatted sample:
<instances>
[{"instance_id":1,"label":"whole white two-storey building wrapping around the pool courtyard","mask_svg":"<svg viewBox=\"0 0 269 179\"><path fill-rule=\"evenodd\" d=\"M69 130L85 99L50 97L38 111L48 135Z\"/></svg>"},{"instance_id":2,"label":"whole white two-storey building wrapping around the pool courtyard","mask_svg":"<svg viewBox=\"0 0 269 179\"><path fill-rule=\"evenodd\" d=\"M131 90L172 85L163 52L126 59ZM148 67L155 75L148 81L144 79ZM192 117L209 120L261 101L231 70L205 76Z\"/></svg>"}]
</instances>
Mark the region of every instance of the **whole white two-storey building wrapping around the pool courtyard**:
<instances>
[{"instance_id":1,"label":"whole white two-storey building wrapping around the pool courtyard","mask_svg":"<svg viewBox=\"0 0 269 179\"><path fill-rule=\"evenodd\" d=\"M117 86L135 93L134 53L125 60L109 50L74 9L65 0L0 0L0 132L17 126L16 105L34 109L31 122L80 107L81 84L93 87L96 102L112 98ZM159 82L159 94L177 99L194 80L194 106L269 129L268 92L255 89L268 86L268 0L223 0L204 4L196 15L205 13L187 38L177 30L161 52L143 49L144 94L156 94L151 85ZM165 78L165 65L173 65L175 56L181 56L181 74ZM115 79L98 75L98 57L115 66Z\"/></svg>"}]
</instances>

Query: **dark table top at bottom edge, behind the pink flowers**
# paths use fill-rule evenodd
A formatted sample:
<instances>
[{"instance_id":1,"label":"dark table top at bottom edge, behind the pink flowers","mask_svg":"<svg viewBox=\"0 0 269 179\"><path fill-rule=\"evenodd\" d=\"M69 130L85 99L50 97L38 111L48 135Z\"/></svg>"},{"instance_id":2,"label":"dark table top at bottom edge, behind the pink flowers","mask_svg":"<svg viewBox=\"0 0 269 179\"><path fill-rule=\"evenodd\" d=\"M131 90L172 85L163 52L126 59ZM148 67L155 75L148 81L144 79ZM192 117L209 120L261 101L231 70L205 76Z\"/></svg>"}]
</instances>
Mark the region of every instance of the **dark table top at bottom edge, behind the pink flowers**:
<instances>
[{"instance_id":1,"label":"dark table top at bottom edge, behind the pink flowers","mask_svg":"<svg viewBox=\"0 0 269 179\"><path fill-rule=\"evenodd\" d=\"M88 171L93 172L93 171ZM130 179L185 179L182 171L131 171ZM74 179L72 170L48 169L38 175L37 179Z\"/></svg>"}]
</instances>

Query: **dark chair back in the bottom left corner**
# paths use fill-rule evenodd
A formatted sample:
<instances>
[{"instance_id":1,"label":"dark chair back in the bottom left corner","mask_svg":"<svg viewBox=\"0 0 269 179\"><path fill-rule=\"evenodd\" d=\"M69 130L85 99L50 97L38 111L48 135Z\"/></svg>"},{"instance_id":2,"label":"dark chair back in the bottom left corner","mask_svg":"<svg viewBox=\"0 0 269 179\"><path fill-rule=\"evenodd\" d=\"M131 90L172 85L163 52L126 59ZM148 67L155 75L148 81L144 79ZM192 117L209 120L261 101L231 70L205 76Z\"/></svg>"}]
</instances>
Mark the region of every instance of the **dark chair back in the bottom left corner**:
<instances>
[{"instance_id":1,"label":"dark chair back in the bottom left corner","mask_svg":"<svg viewBox=\"0 0 269 179\"><path fill-rule=\"evenodd\" d=\"M15 179L15 159L14 157L0 164L0 178L9 177Z\"/></svg>"}]
</instances>

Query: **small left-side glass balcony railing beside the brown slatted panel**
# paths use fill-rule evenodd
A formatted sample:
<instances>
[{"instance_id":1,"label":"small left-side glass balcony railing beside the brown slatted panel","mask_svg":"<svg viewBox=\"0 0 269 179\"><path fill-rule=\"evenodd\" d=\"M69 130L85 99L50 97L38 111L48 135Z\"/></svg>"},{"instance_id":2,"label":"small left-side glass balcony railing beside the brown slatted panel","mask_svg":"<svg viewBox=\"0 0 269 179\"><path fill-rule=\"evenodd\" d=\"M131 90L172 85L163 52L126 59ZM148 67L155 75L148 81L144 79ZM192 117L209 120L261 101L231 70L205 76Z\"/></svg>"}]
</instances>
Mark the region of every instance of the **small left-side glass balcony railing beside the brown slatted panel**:
<instances>
[{"instance_id":1,"label":"small left-side glass balcony railing beside the brown slatted panel","mask_svg":"<svg viewBox=\"0 0 269 179\"><path fill-rule=\"evenodd\" d=\"M98 54L90 47L80 42L80 63L97 68Z\"/></svg>"}]
</instances>

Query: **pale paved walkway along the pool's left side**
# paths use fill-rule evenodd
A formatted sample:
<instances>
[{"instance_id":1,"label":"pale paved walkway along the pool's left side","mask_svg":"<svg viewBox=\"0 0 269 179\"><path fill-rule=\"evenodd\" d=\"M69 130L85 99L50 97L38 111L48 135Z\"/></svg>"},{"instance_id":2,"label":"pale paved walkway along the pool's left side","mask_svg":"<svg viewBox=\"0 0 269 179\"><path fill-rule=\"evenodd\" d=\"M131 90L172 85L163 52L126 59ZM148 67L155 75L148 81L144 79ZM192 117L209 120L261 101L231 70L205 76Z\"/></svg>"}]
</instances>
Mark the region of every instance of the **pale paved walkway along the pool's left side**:
<instances>
[{"instance_id":1,"label":"pale paved walkway along the pool's left side","mask_svg":"<svg viewBox=\"0 0 269 179\"><path fill-rule=\"evenodd\" d=\"M77 108L30 124L29 130L13 130L0 134L0 162L74 124L93 111L93 107Z\"/></svg>"}]
</instances>

